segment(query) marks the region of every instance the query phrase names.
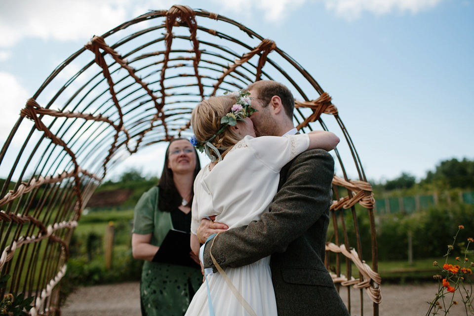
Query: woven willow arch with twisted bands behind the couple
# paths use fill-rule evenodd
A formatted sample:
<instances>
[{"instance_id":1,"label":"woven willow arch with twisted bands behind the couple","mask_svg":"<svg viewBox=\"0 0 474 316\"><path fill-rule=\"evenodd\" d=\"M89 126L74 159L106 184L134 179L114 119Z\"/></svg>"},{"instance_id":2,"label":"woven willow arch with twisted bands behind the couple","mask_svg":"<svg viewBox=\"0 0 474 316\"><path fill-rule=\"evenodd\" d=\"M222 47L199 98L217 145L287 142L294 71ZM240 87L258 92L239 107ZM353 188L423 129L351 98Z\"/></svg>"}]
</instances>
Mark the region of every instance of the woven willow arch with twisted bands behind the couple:
<instances>
[{"instance_id":1,"label":"woven willow arch with twisted bands behind the couple","mask_svg":"<svg viewBox=\"0 0 474 316\"><path fill-rule=\"evenodd\" d=\"M326 265L335 262L333 279L347 291L350 310L351 298L368 295L378 315L381 279L372 188L331 97L274 41L216 13L179 5L93 37L21 110L0 153L0 170L8 174L0 194L0 270L11 275L6 291L34 295L32 315L54 314L70 238L107 172L147 146L190 137L191 111L202 98L259 79L280 81L294 92L300 131L327 130L324 115L345 139L338 148L349 153L346 164L358 180L348 179L336 150L336 169L343 177L333 180L334 236L326 246ZM356 204L368 217L370 231L359 231ZM353 215L350 223L343 216L347 212ZM348 231L355 232L355 244ZM371 244L362 245L360 234L370 234ZM371 248L372 267L362 260L362 246ZM347 263L343 272L342 261ZM354 288L360 295L351 296Z\"/></svg>"}]
</instances>

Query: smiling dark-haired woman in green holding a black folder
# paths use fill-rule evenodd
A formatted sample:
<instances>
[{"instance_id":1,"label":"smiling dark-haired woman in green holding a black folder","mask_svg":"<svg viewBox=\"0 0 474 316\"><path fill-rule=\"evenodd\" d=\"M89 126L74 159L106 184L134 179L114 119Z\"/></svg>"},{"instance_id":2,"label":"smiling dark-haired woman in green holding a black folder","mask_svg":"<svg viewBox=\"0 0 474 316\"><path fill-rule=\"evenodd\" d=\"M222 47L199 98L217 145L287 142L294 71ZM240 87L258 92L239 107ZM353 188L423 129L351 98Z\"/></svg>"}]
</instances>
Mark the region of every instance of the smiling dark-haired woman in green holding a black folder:
<instances>
[{"instance_id":1,"label":"smiling dark-haired woman in green holding a black folder","mask_svg":"<svg viewBox=\"0 0 474 316\"><path fill-rule=\"evenodd\" d=\"M199 169L191 143L187 139L171 141L158 186L145 192L135 206L132 253L135 259L145 260L140 281L142 315L184 315L202 284L197 257L193 258L196 268L158 262L156 257L170 229L190 232L193 183ZM189 248L189 240L176 247Z\"/></svg>"}]
</instances>

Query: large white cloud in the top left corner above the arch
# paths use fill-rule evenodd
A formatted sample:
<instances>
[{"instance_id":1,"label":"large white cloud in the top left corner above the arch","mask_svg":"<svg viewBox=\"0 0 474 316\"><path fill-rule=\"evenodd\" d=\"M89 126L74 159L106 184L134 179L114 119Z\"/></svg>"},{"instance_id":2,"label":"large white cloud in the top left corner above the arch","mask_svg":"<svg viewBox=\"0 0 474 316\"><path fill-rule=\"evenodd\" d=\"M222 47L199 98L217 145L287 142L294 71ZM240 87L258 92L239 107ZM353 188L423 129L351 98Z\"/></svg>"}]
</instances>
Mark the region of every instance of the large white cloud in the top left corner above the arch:
<instances>
[{"instance_id":1,"label":"large white cloud in the top left corner above the arch","mask_svg":"<svg viewBox=\"0 0 474 316\"><path fill-rule=\"evenodd\" d=\"M2 1L0 47L12 47L25 38L86 41L148 9L167 7L159 0Z\"/></svg>"}]
</instances>

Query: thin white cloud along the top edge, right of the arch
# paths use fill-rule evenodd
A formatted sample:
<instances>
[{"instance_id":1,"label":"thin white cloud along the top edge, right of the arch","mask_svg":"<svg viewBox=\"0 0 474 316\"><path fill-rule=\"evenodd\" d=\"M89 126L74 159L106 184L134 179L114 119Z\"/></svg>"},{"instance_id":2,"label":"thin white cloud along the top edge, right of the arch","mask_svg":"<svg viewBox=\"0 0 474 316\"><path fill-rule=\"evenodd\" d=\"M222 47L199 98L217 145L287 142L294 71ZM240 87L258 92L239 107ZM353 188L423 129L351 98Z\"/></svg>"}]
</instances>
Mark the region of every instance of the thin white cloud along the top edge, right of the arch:
<instances>
[{"instance_id":1,"label":"thin white cloud along the top edge, right of the arch","mask_svg":"<svg viewBox=\"0 0 474 316\"><path fill-rule=\"evenodd\" d=\"M366 11L375 15L393 12L411 12L435 7L442 0L322 0L326 8L335 11L338 16L353 20Z\"/></svg>"}]
</instances>

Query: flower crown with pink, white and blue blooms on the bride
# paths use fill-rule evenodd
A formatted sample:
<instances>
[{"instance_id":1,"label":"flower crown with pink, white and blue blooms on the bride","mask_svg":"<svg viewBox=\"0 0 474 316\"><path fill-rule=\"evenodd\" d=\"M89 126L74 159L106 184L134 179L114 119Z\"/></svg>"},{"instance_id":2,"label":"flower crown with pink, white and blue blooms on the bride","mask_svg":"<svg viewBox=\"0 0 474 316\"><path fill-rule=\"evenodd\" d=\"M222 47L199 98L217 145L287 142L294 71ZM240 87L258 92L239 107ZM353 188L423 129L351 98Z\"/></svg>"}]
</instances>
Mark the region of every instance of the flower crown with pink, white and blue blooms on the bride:
<instances>
[{"instance_id":1,"label":"flower crown with pink, white and blue blooms on the bride","mask_svg":"<svg viewBox=\"0 0 474 316\"><path fill-rule=\"evenodd\" d=\"M228 93L229 93L228 91L224 92L224 94L228 94ZM230 95L236 96L237 101L231 107L231 112L227 113L225 116L221 118L221 124L222 124L221 128L219 128L219 130L214 135L212 135L211 137L209 137L208 139L202 142L198 142L196 139L196 136L194 135L190 139L191 145L196 147L196 149L200 151L201 153L205 151L207 157L209 157L209 159L211 159L212 162L216 161L216 158L211 155L210 149L212 149L214 153L217 154L217 156L219 157L219 161L221 161L222 158L219 153L219 150L214 145L211 144L211 141L214 138L216 138L217 135L222 133L228 125L236 126L238 120L244 121L245 120L244 118L247 118L251 116L253 113L257 112L257 109L253 108L252 105L250 104L250 101L252 100L252 98L249 97L250 92L248 92L247 90L241 89L238 92L230 93Z\"/></svg>"}]
</instances>

